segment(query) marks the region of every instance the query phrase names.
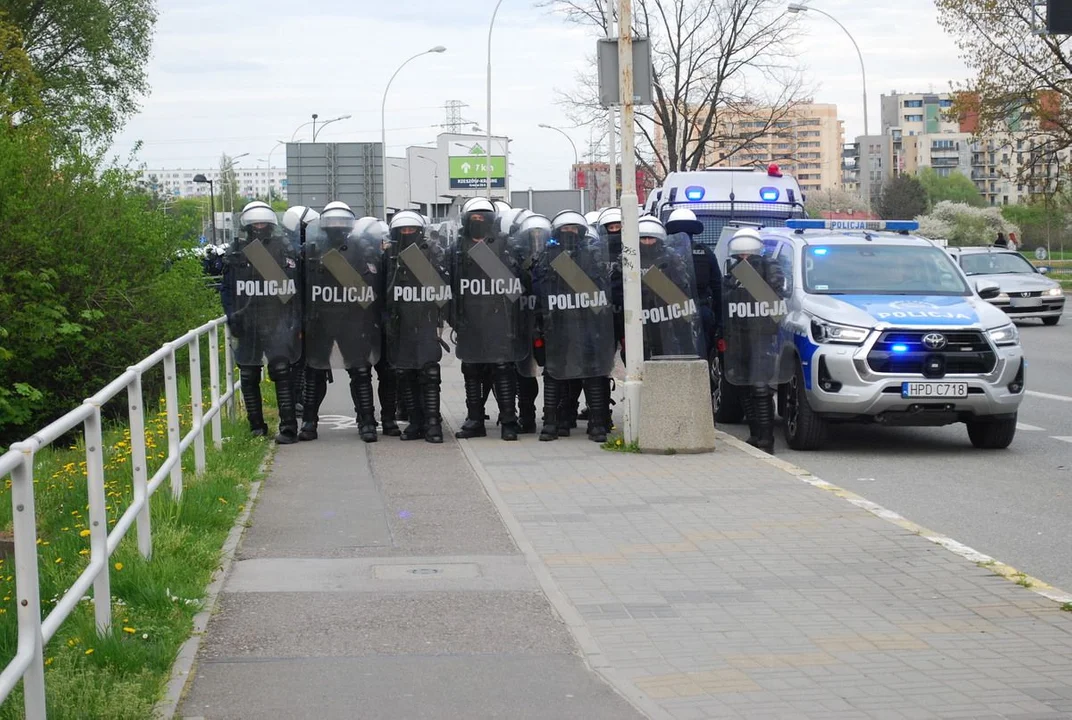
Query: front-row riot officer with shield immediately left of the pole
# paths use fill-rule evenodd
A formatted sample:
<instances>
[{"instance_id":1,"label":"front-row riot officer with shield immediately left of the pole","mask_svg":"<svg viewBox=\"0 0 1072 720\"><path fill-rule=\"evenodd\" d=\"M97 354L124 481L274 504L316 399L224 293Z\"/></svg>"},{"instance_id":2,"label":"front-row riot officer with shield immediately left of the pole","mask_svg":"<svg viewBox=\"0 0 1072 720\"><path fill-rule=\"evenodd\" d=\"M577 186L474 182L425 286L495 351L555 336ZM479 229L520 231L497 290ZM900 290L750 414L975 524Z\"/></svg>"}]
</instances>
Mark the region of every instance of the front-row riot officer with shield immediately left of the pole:
<instances>
[{"instance_id":1,"label":"front-row riot officer with shield immediately left of the pole","mask_svg":"<svg viewBox=\"0 0 1072 720\"><path fill-rule=\"evenodd\" d=\"M563 384L580 379L589 401L589 439L602 442L610 425L606 378L614 368L614 320L607 248L593 242L579 212L551 221L551 237L534 276L538 338L545 344L544 428L559 437Z\"/></svg>"}]
</instances>

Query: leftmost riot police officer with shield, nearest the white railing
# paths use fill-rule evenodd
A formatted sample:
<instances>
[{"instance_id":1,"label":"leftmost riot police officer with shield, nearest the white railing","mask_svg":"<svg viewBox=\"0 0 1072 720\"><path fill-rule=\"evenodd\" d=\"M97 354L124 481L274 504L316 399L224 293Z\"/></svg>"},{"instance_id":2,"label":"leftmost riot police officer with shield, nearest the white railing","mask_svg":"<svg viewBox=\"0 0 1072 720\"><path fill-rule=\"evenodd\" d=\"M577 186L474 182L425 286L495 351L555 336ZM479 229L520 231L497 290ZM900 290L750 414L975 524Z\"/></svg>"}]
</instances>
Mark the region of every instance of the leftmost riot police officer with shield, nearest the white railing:
<instances>
[{"instance_id":1,"label":"leftmost riot police officer with shield, nearest the white railing","mask_svg":"<svg viewBox=\"0 0 1072 720\"><path fill-rule=\"evenodd\" d=\"M260 368L267 360L279 404L276 441L291 445L298 441L291 366L301 355L299 256L264 202L245 206L239 224L242 234L227 254L222 290L242 400L253 434L267 435L260 396Z\"/></svg>"}]
</instances>

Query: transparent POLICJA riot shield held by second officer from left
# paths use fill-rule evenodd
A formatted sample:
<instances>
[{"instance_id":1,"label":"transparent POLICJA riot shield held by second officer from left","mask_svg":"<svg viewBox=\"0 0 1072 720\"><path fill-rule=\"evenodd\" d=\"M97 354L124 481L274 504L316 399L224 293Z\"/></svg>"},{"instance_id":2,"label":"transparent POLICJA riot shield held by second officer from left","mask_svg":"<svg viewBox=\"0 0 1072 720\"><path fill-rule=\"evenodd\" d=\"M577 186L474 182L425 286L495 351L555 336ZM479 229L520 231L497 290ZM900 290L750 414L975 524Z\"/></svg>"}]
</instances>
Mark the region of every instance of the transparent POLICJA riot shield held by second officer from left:
<instances>
[{"instance_id":1,"label":"transparent POLICJA riot shield held by second officer from left","mask_svg":"<svg viewBox=\"0 0 1072 720\"><path fill-rule=\"evenodd\" d=\"M367 223L366 223L367 225ZM306 228L306 364L331 368L336 347L343 366L379 361L383 249L369 227Z\"/></svg>"}]
</instances>

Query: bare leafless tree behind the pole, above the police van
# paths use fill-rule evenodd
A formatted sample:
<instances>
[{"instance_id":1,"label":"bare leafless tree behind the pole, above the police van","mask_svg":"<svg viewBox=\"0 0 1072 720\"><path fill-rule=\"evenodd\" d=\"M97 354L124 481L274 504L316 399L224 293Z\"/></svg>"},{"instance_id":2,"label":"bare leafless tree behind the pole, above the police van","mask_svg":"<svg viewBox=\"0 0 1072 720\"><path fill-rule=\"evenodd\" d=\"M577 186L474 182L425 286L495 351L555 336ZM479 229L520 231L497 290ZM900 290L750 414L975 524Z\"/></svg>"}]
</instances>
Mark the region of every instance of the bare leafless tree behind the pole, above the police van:
<instances>
[{"instance_id":1,"label":"bare leafless tree behind the pole, above the police van","mask_svg":"<svg viewBox=\"0 0 1072 720\"><path fill-rule=\"evenodd\" d=\"M613 0L540 0L539 6L604 35ZM658 179L712 160L747 155L787 133L804 102L794 26L781 0L634 0L634 34L652 44L655 104L638 107L637 160ZM600 114L595 74L562 102L578 124ZM789 159L789 158L786 158ZM751 164L745 159L740 164Z\"/></svg>"}]
</instances>

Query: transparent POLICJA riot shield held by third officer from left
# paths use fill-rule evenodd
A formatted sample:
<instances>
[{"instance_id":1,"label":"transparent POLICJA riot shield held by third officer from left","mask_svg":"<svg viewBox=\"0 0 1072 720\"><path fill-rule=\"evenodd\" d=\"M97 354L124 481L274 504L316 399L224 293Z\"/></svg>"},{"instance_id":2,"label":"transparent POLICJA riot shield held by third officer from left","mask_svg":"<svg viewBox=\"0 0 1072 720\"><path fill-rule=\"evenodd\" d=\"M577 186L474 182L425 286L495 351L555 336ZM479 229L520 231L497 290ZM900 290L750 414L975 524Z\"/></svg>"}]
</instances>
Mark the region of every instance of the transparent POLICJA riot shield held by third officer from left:
<instances>
[{"instance_id":1,"label":"transparent POLICJA riot shield held by third officer from left","mask_svg":"<svg viewBox=\"0 0 1072 720\"><path fill-rule=\"evenodd\" d=\"M387 362L397 370L420 370L443 358L440 336L450 299L443 236L427 229L416 239L392 230L385 258Z\"/></svg>"}]
</instances>

